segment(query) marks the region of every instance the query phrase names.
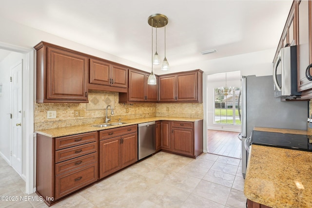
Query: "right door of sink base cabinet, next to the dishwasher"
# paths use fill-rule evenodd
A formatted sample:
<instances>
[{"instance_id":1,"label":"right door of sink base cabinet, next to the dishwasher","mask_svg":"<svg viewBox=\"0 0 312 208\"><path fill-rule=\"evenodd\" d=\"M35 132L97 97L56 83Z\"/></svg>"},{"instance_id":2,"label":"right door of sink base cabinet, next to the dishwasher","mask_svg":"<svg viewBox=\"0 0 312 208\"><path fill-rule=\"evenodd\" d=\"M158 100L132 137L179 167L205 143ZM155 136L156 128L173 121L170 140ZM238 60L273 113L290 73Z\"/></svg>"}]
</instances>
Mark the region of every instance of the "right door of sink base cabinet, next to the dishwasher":
<instances>
[{"instance_id":1,"label":"right door of sink base cabinet, next to the dishwasher","mask_svg":"<svg viewBox=\"0 0 312 208\"><path fill-rule=\"evenodd\" d=\"M137 133L121 136L121 166L126 167L137 162Z\"/></svg>"}]
</instances>

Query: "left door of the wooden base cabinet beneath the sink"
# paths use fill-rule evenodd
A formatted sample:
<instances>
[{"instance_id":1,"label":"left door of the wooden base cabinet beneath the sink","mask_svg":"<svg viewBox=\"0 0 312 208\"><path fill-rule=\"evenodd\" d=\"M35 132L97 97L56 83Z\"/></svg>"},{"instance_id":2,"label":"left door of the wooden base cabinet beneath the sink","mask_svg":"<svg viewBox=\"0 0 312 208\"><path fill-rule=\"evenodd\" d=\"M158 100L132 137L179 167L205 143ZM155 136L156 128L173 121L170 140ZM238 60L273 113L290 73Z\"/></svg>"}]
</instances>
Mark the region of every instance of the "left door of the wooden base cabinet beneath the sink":
<instances>
[{"instance_id":1,"label":"left door of the wooden base cabinet beneath the sink","mask_svg":"<svg viewBox=\"0 0 312 208\"><path fill-rule=\"evenodd\" d=\"M102 178L121 169L121 139L119 137L99 142L99 177Z\"/></svg>"}]
</instances>

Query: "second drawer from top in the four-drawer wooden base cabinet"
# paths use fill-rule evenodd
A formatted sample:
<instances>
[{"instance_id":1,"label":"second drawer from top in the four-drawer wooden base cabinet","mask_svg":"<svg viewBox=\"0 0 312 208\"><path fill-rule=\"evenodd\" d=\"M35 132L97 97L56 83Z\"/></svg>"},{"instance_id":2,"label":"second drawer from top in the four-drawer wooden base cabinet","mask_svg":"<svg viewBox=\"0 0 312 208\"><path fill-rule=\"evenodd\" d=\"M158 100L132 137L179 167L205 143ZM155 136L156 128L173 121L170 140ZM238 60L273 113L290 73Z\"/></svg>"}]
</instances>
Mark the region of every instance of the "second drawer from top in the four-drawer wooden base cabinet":
<instances>
[{"instance_id":1,"label":"second drawer from top in the four-drawer wooden base cabinet","mask_svg":"<svg viewBox=\"0 0 312 208\"><path fill-rule=\"evenodd\" d=\"M92 142L76 147L66 148L55 152L56 163L69 160L81 155L89 154L98 150L98 143Z\"/></svg>"}]
</instances>

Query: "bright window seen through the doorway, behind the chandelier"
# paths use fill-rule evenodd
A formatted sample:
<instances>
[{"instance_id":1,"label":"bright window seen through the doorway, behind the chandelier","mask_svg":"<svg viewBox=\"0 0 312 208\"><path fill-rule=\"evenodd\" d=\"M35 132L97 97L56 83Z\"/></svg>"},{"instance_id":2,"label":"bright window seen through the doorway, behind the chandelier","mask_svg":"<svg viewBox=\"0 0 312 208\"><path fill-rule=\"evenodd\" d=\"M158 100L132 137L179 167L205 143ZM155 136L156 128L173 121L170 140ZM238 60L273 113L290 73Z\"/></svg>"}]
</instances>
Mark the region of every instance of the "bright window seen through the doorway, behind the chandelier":
<instances>
[{"instance_id":1,"label":"bright window seen through the doorway, behind the chandelier","mask_svg":"<svg viewBox=\"0 0 312 208\"><path fill-rule=\"evenodd\" d=\"M220 89L214 88L214 124L240 125L238 115L238 95L240 87L232 87L232 92L224 95Z\"/></svg>"}]
</instances>

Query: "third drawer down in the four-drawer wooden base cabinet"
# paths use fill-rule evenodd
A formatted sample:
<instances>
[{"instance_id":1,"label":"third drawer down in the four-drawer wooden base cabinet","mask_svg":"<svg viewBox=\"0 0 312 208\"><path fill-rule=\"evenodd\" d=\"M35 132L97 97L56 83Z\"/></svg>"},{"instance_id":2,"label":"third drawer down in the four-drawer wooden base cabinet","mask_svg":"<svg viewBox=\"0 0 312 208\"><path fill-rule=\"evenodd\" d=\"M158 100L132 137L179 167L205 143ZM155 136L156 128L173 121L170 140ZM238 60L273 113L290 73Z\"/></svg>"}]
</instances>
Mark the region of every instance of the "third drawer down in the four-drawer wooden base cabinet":
<instances>
[{"instance_id":1,"label":"third drawer down in the four-drawer wooden base cabinet","mask_svg":"<svg viewBox=\"0 0 312 208\"><path fill-rule=\"evenodd\" d=\"M83 156L80 156L71 160L61 162L61 163L57 163L55 165L55 174L59 175L64 172L75 170L82 166L95 163L97 161L98 161L97 152L94 152L94 153L83 155Z\"/></svg>"}]
</instances>

